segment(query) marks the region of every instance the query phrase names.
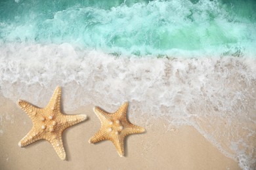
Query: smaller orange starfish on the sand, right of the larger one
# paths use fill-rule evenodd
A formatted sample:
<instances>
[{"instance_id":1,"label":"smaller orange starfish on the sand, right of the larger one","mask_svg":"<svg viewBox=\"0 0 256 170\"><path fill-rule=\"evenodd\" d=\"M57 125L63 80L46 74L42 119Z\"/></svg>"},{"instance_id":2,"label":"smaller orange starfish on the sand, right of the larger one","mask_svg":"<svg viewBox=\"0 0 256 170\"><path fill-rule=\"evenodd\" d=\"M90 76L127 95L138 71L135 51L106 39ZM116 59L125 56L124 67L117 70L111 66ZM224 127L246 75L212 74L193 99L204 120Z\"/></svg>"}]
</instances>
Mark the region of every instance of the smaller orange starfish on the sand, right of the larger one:
<instances>
[{"instance_id":1,"label":"smaller orange starfish on the sand, right of the larger one","mask_svg":"<svg viewBox=\"0 0 256 170\"><path fill-rule=\"evenodd\" d=\"M128 102L123 103L119 109L110 114L99 107L93 110L100 119L100 130L89 139L89 143L98 143L99 141L110 140L116 146L119 156L124 156L123 140L127 135L133 133L143 133L145 129L140 126L135 126L126 118Z\"/></svg>"}]
</instances>

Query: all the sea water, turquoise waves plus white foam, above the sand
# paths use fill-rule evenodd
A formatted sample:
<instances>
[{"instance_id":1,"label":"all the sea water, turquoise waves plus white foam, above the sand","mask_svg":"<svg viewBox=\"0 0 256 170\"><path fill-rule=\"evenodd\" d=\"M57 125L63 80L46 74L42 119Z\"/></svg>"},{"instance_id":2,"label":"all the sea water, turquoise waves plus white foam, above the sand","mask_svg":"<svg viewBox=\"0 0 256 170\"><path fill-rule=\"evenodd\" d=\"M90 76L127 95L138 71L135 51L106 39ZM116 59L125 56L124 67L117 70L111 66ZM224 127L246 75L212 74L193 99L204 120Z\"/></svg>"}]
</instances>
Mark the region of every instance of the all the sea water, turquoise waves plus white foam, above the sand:
<instances>
[{"instance_id":1,"label":"all the sea water, turquoise waves plus white foam, above the sand","mask_svg":"<svg viewBox=\"0 0 256 170\"><path fill-rule=\"evenodd\" d=\"M137 121L193 126L253 169L255 4L1 1L0 93L43 107L60 85L64 110L128 100Z\"/></svg>"}]
</instances>

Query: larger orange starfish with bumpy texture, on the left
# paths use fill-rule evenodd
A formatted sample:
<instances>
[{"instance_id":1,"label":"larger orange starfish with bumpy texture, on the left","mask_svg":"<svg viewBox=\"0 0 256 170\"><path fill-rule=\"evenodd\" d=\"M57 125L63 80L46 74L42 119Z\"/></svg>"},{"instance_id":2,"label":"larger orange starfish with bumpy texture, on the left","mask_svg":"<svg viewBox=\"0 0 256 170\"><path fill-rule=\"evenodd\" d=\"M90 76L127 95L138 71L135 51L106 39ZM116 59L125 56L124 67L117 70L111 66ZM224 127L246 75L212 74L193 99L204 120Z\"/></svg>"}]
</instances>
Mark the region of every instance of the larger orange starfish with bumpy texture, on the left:
<instances>
[{"instance_id":1,"label":"larger orange starfish with bumpy texture, on the left","mask_svg":"<svg viewBox=\"0 0 256 170\"><path fill-rule=\"evenodd\" d=\"M64 129L82 122L87 116L85 114L62 114L60 112L60 97L61 88L58 86L44 109L35 107L26 101L18 100L18 105L30 116L33 122L30 132L18 143L20 147L45 139L53 145L61 160L66 159L66 152L62 143L62 132Z\"/></svg>"}]
</instances>

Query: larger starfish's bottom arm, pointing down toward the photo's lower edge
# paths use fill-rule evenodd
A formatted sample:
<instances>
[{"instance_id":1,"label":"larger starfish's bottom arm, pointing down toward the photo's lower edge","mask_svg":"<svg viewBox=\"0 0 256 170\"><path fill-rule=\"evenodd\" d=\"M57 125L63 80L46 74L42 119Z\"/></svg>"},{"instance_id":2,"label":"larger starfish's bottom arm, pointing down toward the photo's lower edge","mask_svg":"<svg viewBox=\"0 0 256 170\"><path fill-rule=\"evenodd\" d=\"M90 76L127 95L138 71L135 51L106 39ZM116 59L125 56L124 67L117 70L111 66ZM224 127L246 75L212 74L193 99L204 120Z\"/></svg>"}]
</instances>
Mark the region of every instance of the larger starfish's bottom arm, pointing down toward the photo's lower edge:
<instances>
[{"instance_id":1,"label":"larger starfish's bottom arm, pointing down toward the photo's lower edge","mask_svg":"<svg viewBox=\"0 0 256 170\"><path fill-rule=\"evenodd\" d=\"M53 145L54 150L58 154L61 160L66 160L66 152L63 146L61 134L56 135L53 139L47 140Z\"/></svg>"}]
</instances>

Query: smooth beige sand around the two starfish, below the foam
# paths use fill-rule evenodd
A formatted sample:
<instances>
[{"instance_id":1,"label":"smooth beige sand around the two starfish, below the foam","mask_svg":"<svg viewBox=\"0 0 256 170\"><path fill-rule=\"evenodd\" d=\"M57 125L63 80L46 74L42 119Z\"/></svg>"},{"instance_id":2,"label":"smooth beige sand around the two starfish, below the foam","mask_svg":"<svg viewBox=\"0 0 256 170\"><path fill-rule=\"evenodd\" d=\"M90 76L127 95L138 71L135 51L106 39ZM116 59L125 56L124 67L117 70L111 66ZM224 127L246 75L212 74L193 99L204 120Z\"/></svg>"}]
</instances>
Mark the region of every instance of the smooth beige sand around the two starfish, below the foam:
<instances>
[{"instance_id":1,"label":"smooth beige sand around the two starfish, below the foam","mask_svg":"<svg viewBox=\"0 0 256 170\"><path fill-rule=\"evenodd\" d=\"M164 120L144 126L146 133L127 137L125 158L120 158L110 141L88 143L100 128L93 105L65 113L87 114L89 120L64 131L68 160L62 161L47 141L18 146L32 122L16 103L0 97L0 169L240 169L193 127L167 131Z\"/></svg>"}]
</instances>

